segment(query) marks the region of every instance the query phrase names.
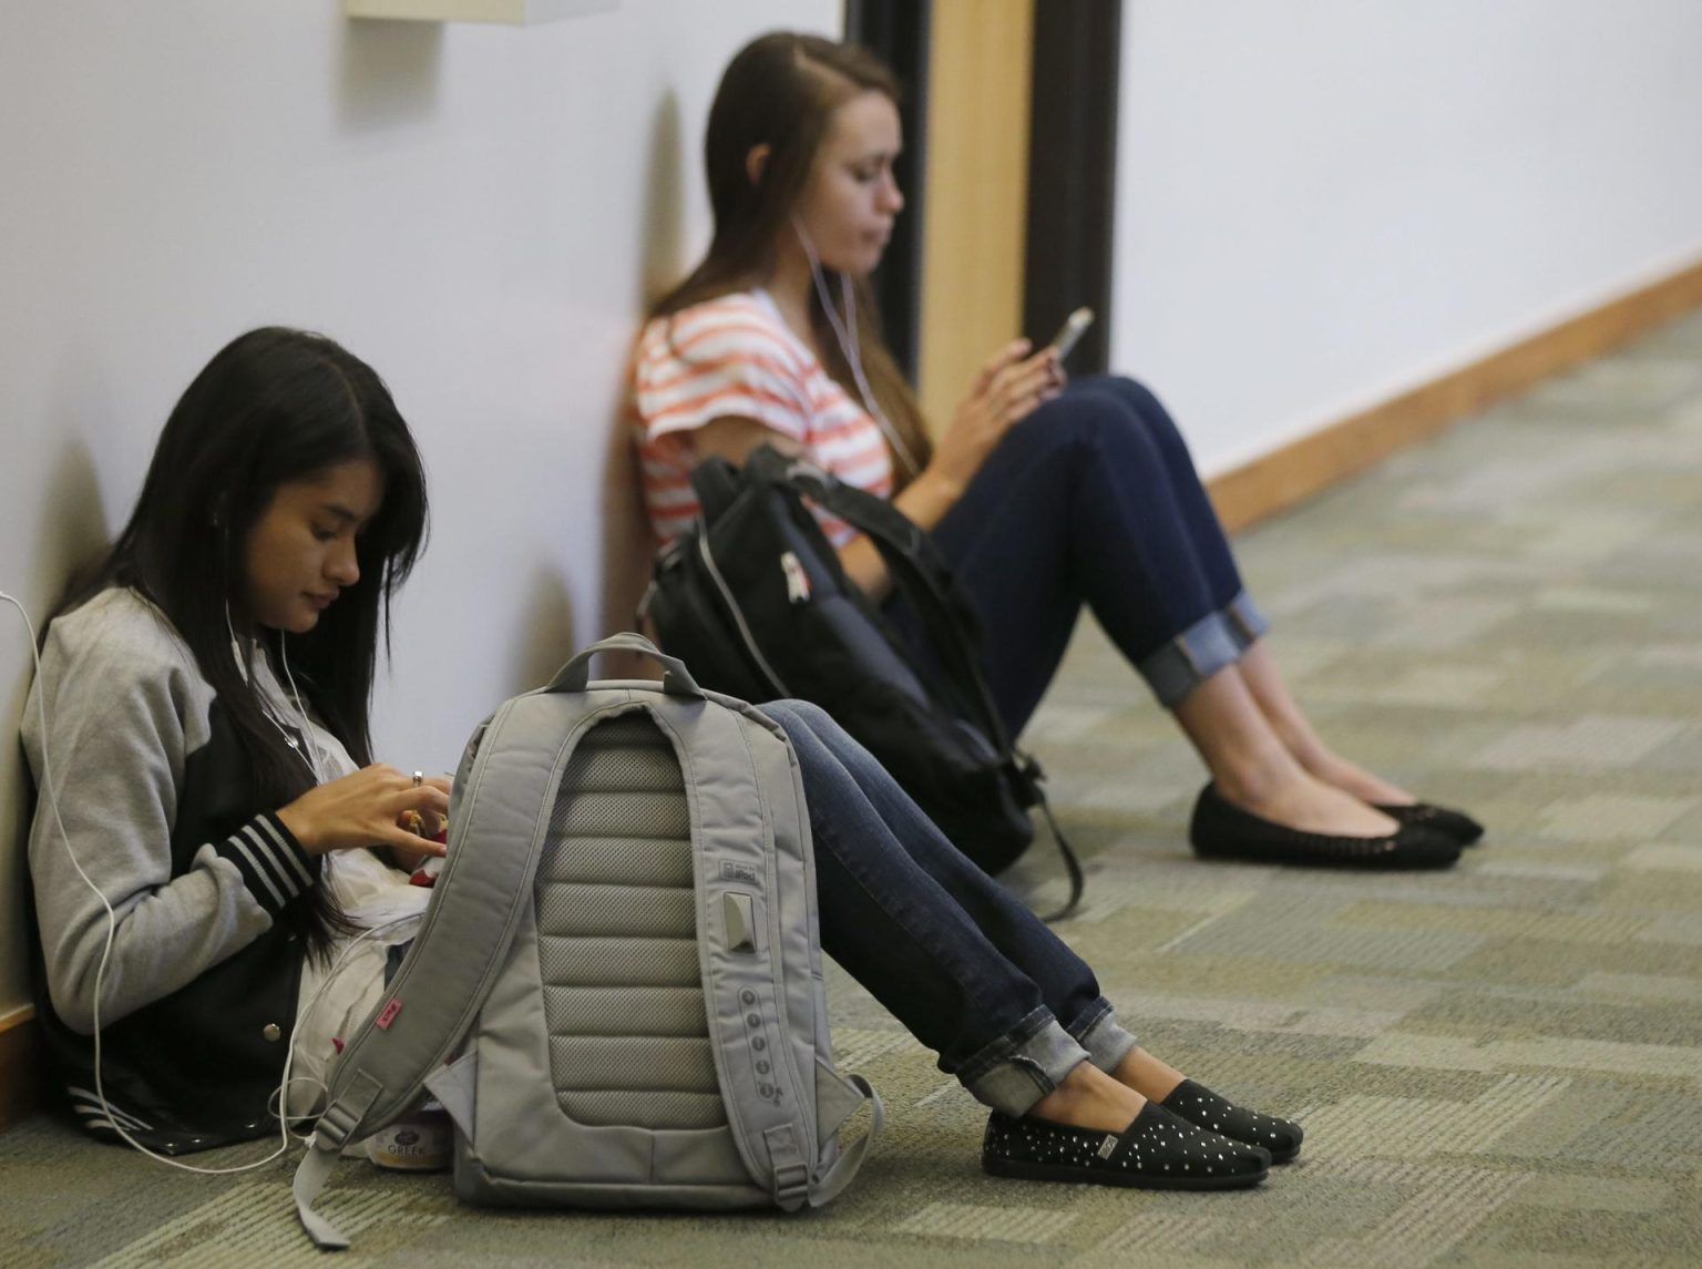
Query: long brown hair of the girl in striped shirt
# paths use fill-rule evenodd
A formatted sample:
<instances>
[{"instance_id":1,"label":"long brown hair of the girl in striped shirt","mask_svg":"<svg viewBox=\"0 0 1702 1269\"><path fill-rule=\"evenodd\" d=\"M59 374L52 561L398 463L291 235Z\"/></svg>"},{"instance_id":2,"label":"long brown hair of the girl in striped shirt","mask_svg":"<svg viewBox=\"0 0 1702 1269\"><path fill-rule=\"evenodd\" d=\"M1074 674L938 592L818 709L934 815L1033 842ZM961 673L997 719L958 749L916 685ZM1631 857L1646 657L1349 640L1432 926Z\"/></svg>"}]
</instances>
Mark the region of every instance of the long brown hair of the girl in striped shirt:
<instances>
[{"instance_id":1,"label":"long brown hair of the girl in striped shirt","mask_svg":"<svg viewBox=\"0 0 1702 1269\"><path fill-rule=\"evenodd\" d=\"M827 123L861 92L900 100L892 70L858 44L776 31L739 49L715 90L703 138L715 237L691 276L650 307L652 319L742 291L773 271L774 242L810 181ZM761 179L752 181L745 157L759 145L769 153ZM926 463L931 446L922 411L882 336L875 295L863 278L854 281L854 293L863 373L875 404L916 460ZM853 400L861 400L819 295L810 298L810 324L827 373ZM899 484L911 475L900 472Z\"/></svg>"}]
</instances>

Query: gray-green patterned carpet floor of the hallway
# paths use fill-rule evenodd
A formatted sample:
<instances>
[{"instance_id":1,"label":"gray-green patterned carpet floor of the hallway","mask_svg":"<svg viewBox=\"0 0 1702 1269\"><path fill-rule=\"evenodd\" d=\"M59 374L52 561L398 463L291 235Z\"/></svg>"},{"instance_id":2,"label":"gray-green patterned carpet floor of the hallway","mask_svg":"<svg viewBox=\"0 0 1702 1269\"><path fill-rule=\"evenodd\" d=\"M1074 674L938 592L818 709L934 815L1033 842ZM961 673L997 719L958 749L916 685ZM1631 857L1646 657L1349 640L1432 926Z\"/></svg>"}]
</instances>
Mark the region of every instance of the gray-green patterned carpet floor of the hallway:
<instances>
[{"instance_id":1,"label":"gray-green patterned carpet floor of the hallway","mask_svg":"<svg viewBox=\"0 0 1702 1269\"><path fill-rule=\"evenodd\" d=\"M1413 877L1193 862L1200 767L1093 629L1030 741L1091 855L1065 937L1149 1048L1304 1119L1299 1163L1222 1196L984 1177L982 1111L836 976L841 1065L890 1131L834 1206L485 1213L346 1163L340 1264L1702 1262L1702 315L1239 550L1326 736L1486 845ZM1057 893L1043 860L1019 882ZM189 1177L37 1119L0 1138L0 1245L311 1264L288 1175Z\"/></svg>"}]
</instances>

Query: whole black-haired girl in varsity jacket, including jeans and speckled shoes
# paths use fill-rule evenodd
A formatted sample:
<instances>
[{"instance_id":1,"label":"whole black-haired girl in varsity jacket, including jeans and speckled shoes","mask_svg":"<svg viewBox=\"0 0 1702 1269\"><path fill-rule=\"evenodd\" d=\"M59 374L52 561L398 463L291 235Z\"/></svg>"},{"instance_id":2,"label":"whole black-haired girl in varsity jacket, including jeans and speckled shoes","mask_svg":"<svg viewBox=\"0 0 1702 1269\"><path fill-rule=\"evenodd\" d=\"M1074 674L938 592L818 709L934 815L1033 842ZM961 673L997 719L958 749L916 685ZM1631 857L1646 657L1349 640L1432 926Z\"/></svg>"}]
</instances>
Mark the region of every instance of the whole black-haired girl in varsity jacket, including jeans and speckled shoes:
<instances>
[{"instance_id":1,"label":"whole black-haired girl in varsity jacket, including jeans and speckled shoes","mask_svg":"<svg viewBox=\"0 0 1702 1269\"><path fill-rule=\"evenodd\" d=\"M95 1136L179 1153L274 1131L289 1053L284 1107L320 1109L405 937L374 922L419 913L405 869L441 853L400 821L444 814L446 782L371 765L368 731L424 531L378 376L255 330L184 393L131 523L49 625L24 721L41 1019ZM825 714L769 712L798 755L822 947L992 1107L989 1172L1225 1189L1299 1151L1294 1124L1139 1048L1093 971Z\"/></svg>"}]
</instances>

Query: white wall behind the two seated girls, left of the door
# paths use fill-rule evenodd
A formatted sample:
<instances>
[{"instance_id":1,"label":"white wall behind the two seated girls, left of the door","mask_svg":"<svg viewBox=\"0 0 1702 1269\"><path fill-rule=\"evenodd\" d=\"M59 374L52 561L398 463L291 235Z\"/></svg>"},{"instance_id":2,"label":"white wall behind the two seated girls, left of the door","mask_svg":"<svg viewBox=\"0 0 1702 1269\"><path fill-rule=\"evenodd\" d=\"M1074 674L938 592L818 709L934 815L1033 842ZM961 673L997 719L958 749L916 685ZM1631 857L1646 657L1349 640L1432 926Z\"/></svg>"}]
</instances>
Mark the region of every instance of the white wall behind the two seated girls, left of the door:
<instances>
[{"instance_id":1,"label":"white wall behind the two seated girls, left of the door","mask_svg":"<svg viewBox=\"0 0 1702 1269\"><path fill-rule=\"evenodd\" d=\"M351 24L340 0L0 7L0 589L49 610L230 337L325 330L390 382L434 499L380 753L453 768L483 714L625 623L603 547L630 506L621 365L647 286L706 240L710 95L752 34L839 22L839 0L531 29ZM27 663L0 605L7 738ZM7 739L0 1015L27 998L20 804Z\"/></svg>"}]
</instances>

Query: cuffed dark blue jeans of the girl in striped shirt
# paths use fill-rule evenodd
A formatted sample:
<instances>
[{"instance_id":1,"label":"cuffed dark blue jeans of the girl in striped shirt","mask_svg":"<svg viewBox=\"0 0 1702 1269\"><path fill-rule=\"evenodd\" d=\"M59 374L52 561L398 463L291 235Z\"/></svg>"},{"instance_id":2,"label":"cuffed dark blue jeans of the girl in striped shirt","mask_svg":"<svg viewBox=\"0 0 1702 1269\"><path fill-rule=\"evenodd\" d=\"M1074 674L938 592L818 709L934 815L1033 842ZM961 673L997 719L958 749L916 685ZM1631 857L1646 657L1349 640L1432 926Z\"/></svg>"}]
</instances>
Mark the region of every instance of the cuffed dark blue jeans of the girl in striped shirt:
<instances>
[{"instance_id":1,"label":"cuffed dark blue jeans of the girl in striped shirt","mask_svg":"<svg viewBox=\"0 0 1702 1269\"><path fill-rule=\"evenodd\" d=\"M933 540L982 615L987 681L1013 736L1082 605L1166 707L1268 629L1188 443L1134 380L1081 380L1016 424ZM894 618L921 647L902 601Z\"/></svg>"}]
</instances>

